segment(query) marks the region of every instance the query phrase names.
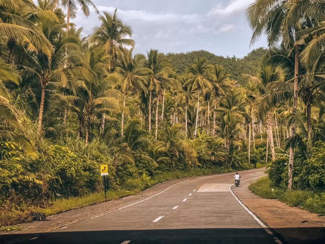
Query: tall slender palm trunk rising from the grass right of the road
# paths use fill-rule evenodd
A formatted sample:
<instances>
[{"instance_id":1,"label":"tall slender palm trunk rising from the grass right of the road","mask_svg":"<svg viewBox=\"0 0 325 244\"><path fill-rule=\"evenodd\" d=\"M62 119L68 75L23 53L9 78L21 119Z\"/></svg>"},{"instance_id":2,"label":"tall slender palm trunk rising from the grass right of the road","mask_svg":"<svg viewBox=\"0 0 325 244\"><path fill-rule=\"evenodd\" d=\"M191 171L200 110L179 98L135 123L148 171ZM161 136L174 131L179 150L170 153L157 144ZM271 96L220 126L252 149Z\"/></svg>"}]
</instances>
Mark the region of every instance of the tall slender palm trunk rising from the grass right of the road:
<instances>
[{"instance_id":1,"label":"tall slender palm trunk rising from the grass right of the road","mask_svg":"<svg viewBox=\"0 0 325 244\"><path fill-rule=\"evenodd\" d=\"M297 34L296 34L297 37ZM296 38L297 39L297 38ZM295 47L294 55L294 94L293 94L293 106L292 114L294 115L297 110L298 104L298 76L299 76L299 46ZM295 134L294 125L291 126L291 135ZM293 175L293 148L289 149L289 169L288 169L288 189L292 189L292 175Z\"/></svg>"}]
</instances>

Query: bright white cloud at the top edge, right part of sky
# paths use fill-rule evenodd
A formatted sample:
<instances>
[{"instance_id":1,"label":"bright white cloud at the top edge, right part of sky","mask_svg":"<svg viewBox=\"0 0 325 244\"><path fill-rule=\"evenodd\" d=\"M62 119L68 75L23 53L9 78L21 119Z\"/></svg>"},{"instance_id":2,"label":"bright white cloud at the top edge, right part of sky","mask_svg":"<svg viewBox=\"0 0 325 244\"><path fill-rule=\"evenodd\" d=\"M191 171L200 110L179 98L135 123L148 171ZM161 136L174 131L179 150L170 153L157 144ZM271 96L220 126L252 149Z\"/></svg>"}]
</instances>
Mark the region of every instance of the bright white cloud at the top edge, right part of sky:
<instances>
[{"instance_id":1,"label":"bright white cloud at the top edge, right part of sky","mask_svg":"<svg viewBox=\"0 0 325 244\"><path fill-rule=\"evenodd\" d=\"M220 3L215 4L207 16L232 15L244 11L255 0L231 0L228 5L223 7Z\"/></svg>"}]
</instances>

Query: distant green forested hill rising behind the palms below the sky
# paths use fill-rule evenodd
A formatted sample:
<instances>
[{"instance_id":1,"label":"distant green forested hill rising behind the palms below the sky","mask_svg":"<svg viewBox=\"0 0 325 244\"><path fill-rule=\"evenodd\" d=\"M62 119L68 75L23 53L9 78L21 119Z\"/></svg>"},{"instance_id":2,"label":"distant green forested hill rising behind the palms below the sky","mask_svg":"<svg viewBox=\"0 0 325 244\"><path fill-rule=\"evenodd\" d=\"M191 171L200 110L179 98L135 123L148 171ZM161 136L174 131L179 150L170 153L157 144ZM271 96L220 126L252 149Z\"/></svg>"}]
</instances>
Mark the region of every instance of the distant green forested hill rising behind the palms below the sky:
<instances>
[{"instance_id":1,"label":"distant green forested hill rising behind the palms below the sky","mask_svg":"<svg viewBox=\"0 0 325 244\"><path fill-rule=\"evenodd\" d=\"M191 65L195 61L195 58L204 57L208 59L211 64L217 63L224 66L224 68L231 73L232 79L243 84L245 78L242 77L242 74L256 75L258 64L266 52L267 49L260 47L251 51L244 58L236 58L235 56L232 58L225 58L204 50L187 53L168 53L166 57L170 60L171 64L177 68L179 73L184 73L186 67Z\"/></svg>"}]
</instances>

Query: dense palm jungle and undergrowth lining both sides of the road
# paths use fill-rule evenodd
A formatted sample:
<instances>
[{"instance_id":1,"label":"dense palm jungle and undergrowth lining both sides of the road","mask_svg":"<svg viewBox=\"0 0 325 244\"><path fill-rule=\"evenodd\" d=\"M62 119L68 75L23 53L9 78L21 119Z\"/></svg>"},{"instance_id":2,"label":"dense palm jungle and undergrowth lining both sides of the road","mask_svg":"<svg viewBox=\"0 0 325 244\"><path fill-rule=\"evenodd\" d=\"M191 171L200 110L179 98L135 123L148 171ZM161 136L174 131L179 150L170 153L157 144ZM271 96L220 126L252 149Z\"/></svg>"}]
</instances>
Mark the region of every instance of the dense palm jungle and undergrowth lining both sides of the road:
<instances>
[{"instance_id":1,"label":"dense palm jungle and undergrowth lining both sides of the road","mask_svg":"<svg viewBox=\"0 0 325 244\"><path fill-rule=\"evenodd\" d=\"M100 164L112 191L271 161L277 187L324 190L325 2L263 2L247 18L269 48L236 59L134 54L117 11L82 36L91 1L0 0L2 211L102 191Z\"/></svg>"}]
</instances>

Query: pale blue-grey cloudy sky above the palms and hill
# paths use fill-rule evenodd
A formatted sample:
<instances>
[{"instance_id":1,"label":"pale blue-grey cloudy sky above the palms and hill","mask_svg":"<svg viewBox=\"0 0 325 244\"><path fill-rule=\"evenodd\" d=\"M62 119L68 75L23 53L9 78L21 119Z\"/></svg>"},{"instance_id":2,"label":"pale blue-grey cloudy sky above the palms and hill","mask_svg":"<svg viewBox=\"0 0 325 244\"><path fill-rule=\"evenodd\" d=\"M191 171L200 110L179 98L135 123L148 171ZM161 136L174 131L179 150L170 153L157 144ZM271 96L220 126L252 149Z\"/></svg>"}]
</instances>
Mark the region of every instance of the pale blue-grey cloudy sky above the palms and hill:
<instances>
[{"instance_id":1,"label":"pale blue-grey cloudy sky above the palms and hill","mask_svg":"<svg viewBox=\"0 0 325 244\"><path fill-rule=\"evenodd\" d=\"M93 0L100 13L113 12L132 27L135 53L151 48L163 53L206 50L221 56L242 58L251 50L266 47L262 37L252 47L252 30L245 9L255 0ZM83 34L100 25L90 7L85 17L78 11L72 20Z\"/></svg>"}]
</instances>

